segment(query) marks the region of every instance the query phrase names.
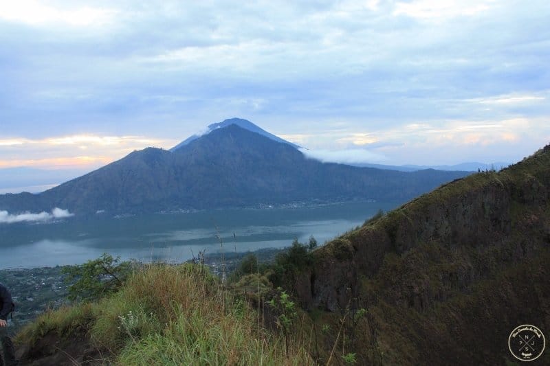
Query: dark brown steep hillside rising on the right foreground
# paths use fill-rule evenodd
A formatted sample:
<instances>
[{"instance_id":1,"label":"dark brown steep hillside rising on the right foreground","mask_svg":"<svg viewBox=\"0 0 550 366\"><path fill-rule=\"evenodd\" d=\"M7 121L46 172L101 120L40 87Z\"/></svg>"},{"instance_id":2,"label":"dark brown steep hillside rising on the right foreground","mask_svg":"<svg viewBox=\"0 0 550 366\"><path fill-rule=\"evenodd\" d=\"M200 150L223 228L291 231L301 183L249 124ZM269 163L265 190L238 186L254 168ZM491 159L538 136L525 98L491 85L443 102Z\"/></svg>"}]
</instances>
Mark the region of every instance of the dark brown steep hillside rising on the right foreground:
<instances>
[{"instance_id":1,"label":"dark brown steep hillside rising on the right foreground","mask_svg":"<svg viewBox=\"0 0 550 366\"><path fill-rule=\"evenodd\" d=\"M550 146L443 185L314 255L294 290L327 322L367 309L362 363L514 361L511 330L550 330ZM549 352L533 364L550 364Z\"/></svg>"}]
</instances>

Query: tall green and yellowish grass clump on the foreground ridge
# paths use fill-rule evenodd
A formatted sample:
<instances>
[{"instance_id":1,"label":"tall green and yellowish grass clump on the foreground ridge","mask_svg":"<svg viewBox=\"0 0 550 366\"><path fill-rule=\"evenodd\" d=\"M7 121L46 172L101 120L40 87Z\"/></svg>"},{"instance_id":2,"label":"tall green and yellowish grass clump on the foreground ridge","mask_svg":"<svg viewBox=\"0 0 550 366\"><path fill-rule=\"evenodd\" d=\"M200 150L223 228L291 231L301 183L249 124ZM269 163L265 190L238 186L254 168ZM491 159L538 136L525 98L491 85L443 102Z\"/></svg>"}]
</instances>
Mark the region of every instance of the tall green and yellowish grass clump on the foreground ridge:
<instances>
[{"instance_id":1,"label":"tall green and yellowish grass clump on the foreground ridge","mask_svg":"<svg viewBox=\"0 0 550 366\"><path fill-rule=\"evenodd\" d=\"M258 311L199 264L146 266L94 304L46 312L17 342L51 332L85 332L116 365L313 364L305 347L265 330Z\"/></svg>"}]
</instances>

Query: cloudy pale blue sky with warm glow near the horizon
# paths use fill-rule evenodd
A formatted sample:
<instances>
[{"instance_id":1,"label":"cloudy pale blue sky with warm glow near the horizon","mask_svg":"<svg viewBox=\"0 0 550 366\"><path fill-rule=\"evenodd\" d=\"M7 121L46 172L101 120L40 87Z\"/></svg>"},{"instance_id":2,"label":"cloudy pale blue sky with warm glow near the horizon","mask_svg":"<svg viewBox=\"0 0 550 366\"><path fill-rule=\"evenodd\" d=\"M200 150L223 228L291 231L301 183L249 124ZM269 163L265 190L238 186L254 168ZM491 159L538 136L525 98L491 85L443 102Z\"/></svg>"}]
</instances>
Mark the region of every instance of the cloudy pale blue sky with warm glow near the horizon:
<instances>
[{"instance_id":1,"label":"cloudy pale blue sky with warm glow near the horizon","mask_svg":"<svg viewBox=\"0 0 550 366\"><path fill-rule=\"evenodd\" d=\"M550 142L550 2L0 0L0 168L91 170L250 119L320 155Z\"/></svg>"}]
</instances>

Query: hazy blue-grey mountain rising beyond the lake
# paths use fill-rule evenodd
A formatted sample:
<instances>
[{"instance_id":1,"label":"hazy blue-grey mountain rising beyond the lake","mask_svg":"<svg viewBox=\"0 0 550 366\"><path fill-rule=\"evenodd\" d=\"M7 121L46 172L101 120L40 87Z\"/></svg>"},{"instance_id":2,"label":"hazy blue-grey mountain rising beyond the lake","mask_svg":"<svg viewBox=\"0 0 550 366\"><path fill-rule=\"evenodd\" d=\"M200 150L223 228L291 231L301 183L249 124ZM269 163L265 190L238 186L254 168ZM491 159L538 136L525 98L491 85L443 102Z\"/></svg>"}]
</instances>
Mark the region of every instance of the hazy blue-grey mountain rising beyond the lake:
<instances>
[{"instance_id":1,"label":"hazy blue-grey mountain rising beyond the lake","mask_svg":"<svg viewBox=\"0 0 550 366\"><path fill-rule=\"evenodd\" d=\"M38 195L0 196L0 210L69 209L76 214L278 204L293 201L410 199L466 172L395 172L306 159L235 124L174 152L146 148Z\"/></svg>"}]
</instances>

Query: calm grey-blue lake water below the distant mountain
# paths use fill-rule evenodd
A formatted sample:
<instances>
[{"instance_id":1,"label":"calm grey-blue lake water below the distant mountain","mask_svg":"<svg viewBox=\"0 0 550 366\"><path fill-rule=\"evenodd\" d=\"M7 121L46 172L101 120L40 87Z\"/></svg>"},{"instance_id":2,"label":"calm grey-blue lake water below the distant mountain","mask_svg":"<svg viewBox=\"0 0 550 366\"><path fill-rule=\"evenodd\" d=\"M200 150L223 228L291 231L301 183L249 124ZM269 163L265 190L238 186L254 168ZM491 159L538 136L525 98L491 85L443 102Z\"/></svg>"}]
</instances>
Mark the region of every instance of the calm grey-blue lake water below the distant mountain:
<instances>
[{"instance_id":1,"label":"calm grey-blue lake water below the distant mountain","mask_svg":"<svg viewBox=\"0 0 550 366\"><path fill-rule=\"evenodd\" d=\"M78 264L104 252L122 259L182 262L192 253L282 248L294 238L319 243L399 203L353 202L318 207L217 209L113 218L98 215L48 223L0 224L0 269Z\"/></svg>"}]
</instances>

